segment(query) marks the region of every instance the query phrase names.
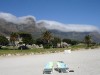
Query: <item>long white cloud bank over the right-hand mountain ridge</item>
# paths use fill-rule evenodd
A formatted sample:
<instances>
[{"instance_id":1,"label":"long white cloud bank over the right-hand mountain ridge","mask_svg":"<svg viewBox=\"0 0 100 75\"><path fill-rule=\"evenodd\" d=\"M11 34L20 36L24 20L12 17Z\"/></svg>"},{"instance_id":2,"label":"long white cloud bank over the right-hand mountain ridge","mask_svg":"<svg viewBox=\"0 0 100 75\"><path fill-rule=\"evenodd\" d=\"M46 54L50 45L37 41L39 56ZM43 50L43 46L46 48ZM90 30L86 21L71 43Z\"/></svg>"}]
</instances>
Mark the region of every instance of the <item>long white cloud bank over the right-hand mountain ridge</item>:
<instances>
[{"instance_id":1,"label":"long white cloud bank over the right-hand mountain ridge","mask_svg":"<svg viewBox=\"0 0 100 75\"><path fill-rule=\"evenodd\" d=\"M92 32L99 31L96 26L84 24L62 24L56 21L40 20L37 22L38 27L45 27L47 29L59 30L62 32ZM42 26L43 25L43 26Z\"/></svg>"}]
</instances>

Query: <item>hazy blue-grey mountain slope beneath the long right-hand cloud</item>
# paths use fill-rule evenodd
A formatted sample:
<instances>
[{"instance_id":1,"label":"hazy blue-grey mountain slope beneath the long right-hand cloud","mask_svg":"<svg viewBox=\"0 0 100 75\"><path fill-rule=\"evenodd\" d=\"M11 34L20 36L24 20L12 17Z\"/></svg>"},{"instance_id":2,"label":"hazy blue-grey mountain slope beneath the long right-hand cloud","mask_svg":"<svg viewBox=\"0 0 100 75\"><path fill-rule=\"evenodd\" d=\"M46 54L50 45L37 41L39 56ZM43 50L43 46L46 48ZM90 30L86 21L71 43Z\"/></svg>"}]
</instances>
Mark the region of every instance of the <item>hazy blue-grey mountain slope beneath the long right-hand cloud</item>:
<instances>
[{"instance_id":1,"label":"hazy blue-grey mountain slope beneath the long right-hand cloud","mask_svg":"<svg viewBox=\"0 0 100 75\"><path fill-rule=\"evenodd\" d=\"M92 36L92 41L100 43L100 34L98 32L61 32L57 30L49 30L54 36L62 39L73 39L83 41L86 35Z\"/></svg>"}]
</instances>

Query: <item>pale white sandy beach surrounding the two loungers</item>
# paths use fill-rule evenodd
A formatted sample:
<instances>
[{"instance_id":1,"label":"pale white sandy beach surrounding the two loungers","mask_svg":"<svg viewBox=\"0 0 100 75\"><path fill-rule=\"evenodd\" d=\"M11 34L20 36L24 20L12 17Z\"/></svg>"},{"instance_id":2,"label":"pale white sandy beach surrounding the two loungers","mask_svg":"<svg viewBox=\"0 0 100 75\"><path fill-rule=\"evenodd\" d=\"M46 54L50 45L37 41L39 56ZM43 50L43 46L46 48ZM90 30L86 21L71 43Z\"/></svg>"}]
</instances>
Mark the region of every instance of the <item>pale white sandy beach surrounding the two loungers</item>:
<instances>
[{"instance_id":1,"label":"pale white sandy beach surrounding the two loungers","mask_svg":"<svg viewBox=\"0 0 100 75\"><path fill-rule=\"evenodd\" d=\"M0 57L0 75L43 75L44 65L49 61L64 61L69 70L74 70L69 73L54 70L52 75L100 75L100 49Z\"/></svg>"}]
</instances>

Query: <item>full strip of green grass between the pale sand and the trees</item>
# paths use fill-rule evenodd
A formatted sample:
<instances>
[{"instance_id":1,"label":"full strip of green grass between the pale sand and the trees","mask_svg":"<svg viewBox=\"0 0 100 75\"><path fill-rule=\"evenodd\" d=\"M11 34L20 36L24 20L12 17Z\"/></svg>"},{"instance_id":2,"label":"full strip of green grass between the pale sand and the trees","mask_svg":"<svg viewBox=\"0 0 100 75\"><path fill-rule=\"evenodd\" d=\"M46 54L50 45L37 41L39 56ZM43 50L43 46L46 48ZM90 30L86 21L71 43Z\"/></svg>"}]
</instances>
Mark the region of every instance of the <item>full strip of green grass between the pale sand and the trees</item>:
<instances>
[{"instance_id":1,"label":"full strip of green grass between the pale sand and the trees","mask_svg":"<svg viewBox=\"0 0 100 75\"><path fill-rule=\"evenodd\" d=\"M98 48L98 47L100 47L100 46L92 46L89 48L94 49L94 48ZM0 56L1 55L5 56L8 54L11 54L11 55L17 55L17 54L25 55L25 54L31 54L31 53L45 54L45 53L63 52L66 49L79 50L82 48L88 49L86 47L86 45L74 45L74 46L70 46L68 48L50 48L50 49L34 48L34 49L29 49L29 50L17 50L17 48L13 49L12 47L4 47L4 48L0 49Z\"/></svg>"}]
</instances>

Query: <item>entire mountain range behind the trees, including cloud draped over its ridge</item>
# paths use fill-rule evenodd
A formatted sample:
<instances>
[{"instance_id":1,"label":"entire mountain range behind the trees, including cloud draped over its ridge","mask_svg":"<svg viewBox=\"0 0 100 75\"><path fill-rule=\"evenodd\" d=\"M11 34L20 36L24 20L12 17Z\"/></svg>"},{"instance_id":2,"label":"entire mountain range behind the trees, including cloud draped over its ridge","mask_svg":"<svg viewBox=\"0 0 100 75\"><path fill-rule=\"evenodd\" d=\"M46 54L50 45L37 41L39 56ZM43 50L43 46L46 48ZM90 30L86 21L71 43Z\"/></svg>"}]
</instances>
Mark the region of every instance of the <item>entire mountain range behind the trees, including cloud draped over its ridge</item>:
<instances>
[{"instance_id":1,"label":"entire mountain range behind the trees, including cloud draped over its ridge","mask_svg":"<svg viewBox=\"0 0 100 75\"><path fill-rule=\"evenodd\" d=\"M78 28L77 28L78 27ZM94 42L100 43L100 33L98 29L87 25L64 25L55 21L36 21L32 16L20 17L16 21L0 17L0 35L10 36L11 32L28 32L34 38L48 30L53 36L60 38L70 38L73 40L83 40L84 36L91 35Z\"/></svg>"}]
</instances>

